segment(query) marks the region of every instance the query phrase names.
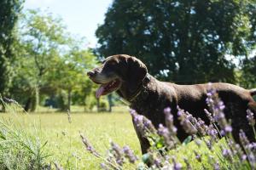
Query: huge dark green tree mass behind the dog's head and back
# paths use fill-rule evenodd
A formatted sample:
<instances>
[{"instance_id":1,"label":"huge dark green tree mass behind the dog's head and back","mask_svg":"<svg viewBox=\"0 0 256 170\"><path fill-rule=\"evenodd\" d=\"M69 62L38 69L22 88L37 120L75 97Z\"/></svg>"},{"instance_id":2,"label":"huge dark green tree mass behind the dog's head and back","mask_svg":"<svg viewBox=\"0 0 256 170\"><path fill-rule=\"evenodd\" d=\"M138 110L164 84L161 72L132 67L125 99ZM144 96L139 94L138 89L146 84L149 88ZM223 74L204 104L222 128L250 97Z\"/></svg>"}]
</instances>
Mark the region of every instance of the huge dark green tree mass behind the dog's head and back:
<instances>
[{"instance_id":1,"label":"huge dark green tree mass behind the dog's head and back","mask_svg":"<svg viewBox=\"0 0 256 170\"><path fill-rule=\"evenodd\" d=\"M235 82L226 54L253 47L253 11L253 0L115 0L96 31L96 52L135 55L164 80Z\"/></svg>"}]
</instances>

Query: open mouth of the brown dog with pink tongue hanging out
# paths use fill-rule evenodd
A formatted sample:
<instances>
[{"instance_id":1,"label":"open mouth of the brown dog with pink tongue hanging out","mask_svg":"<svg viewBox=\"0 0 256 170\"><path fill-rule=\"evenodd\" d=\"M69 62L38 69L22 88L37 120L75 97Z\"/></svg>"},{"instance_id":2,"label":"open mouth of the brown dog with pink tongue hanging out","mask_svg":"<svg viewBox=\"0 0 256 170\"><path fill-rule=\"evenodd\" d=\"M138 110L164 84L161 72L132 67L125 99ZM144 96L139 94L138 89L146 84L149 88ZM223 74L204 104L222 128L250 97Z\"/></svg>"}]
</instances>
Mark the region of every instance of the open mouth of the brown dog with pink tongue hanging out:
<instances>
[{"instance_id":1,"label":"open mouth of the brown dog with pink tongue hanging out","mask_svg":"<svg viewBox=\"0 0 256 170\"><path fill-rule=\"evenodd\" d=\"M120 84L121 82L118 78L114 79L111 82L102 84L100 88L98 88L96 91L96 98L100 98L102 95L112 93L113 91L117 90L120 87Z\"/></svg>"}]
</instances>

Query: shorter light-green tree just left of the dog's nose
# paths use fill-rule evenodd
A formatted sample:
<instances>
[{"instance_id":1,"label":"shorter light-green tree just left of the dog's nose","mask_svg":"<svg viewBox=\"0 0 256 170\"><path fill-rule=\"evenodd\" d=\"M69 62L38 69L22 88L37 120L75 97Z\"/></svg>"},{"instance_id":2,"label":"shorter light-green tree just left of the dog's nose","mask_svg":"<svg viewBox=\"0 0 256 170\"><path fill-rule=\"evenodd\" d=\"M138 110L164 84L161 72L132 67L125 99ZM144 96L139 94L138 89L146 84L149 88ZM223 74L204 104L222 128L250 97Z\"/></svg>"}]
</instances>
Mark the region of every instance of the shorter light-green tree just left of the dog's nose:
<instances>
[{"instance_id":1,"label":"shorter light-green tree just left of the dog's nose","mask_svg":"<svg viewBox=\"0 0 256 170\"><path fill-rule=\"evenodd\" d=\"M47 77L52 87L67 92L67 104L61 105L62 111L71 110L73 91L82 91L80 94L83 94L84 98L86 98L86 95L90 95L92 86L90 86L91 82L86 76L86 71L89 71L95 65L96 57L90 50L80 49L78 46L70 47L67 54L64 54L55 62L55 66L51 68ZM84 86L90 89L85 89L86 92L83 92Z\"/></svg>"}]
</instances>

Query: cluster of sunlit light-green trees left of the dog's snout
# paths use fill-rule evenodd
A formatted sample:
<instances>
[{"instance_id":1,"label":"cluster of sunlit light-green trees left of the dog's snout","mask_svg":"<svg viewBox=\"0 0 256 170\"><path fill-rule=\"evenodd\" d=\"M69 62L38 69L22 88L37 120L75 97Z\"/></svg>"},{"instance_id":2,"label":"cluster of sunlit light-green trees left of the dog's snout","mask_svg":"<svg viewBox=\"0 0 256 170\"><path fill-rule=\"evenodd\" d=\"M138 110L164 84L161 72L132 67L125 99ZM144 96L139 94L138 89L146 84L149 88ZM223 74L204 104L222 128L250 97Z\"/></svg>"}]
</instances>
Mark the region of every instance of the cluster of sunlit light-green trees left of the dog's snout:
<instances>
[{"instance_id":1,"label":"cluster of sunlit light-green trees left of the dog's snout","mask_svg":"<svg viewBox=\"0 0 256 170\"><path fill-rule=\"evenodd\" d=\"M84 38L73 37L61 19L40 10L22 14L18 31L12 98L26 111L36 111L44 104L40 99L61 111L84 105L95 88L86 71L97 64L95 55L84 49Z\"/></svg>"}]
</instances>

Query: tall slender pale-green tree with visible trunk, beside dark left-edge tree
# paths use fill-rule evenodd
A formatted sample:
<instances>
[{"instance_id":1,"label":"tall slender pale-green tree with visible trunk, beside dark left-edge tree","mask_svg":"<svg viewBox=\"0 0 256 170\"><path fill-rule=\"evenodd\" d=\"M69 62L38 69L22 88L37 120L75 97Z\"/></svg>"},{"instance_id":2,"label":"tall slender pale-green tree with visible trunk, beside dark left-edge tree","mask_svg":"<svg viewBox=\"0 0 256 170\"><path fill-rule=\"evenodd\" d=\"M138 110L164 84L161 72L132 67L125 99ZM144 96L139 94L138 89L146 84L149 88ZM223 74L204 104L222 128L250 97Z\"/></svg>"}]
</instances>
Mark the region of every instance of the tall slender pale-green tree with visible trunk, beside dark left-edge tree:
<instances>
[{"instance_id":1,"label":"tall slender pale-green tree with visible trunk, beside dark left-edge tree","mask_svg":"<svg viewBox=\"0 0 256 170\"><path fill-rule=\"evenodd\" d=\"M28 10L20 22L21 43L26 48L27 57L32 59L36 82L32 87L31 111L36 111L39 103L40 88L44 86L44 76L55 66L55 59L61 54L61 45L67 42L65 26L61 19L56 19L49 13Z\"/></svg>"}]
</instances>

